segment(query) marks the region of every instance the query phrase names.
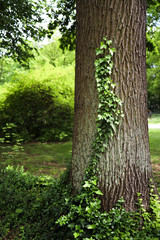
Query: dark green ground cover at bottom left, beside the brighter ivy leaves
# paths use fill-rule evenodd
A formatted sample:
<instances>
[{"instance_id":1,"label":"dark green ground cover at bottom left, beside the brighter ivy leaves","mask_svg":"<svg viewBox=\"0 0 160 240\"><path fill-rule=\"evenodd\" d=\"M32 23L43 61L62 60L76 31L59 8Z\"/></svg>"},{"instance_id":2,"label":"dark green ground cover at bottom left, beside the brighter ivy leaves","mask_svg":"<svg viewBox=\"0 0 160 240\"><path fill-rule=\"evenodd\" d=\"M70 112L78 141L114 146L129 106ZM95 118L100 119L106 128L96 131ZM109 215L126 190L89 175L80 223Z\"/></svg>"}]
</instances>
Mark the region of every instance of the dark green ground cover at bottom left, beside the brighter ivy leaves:
<instances>
[{"instance_id":1,"label":"dark green ground cover at bottom left, beside the brighter ivy leaves","mask_svg":"<svg viewBox=\"0 0 160 240\"><path fill-rule=\"evenodd\" d=\"M66 177L34 177L23 169L0 170L0 236L2 239L72 239L67 227L55 224L66 212L70 194Z\"/></svg>"}]
</instances>

